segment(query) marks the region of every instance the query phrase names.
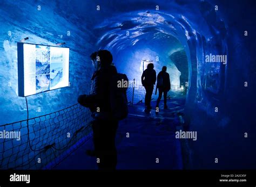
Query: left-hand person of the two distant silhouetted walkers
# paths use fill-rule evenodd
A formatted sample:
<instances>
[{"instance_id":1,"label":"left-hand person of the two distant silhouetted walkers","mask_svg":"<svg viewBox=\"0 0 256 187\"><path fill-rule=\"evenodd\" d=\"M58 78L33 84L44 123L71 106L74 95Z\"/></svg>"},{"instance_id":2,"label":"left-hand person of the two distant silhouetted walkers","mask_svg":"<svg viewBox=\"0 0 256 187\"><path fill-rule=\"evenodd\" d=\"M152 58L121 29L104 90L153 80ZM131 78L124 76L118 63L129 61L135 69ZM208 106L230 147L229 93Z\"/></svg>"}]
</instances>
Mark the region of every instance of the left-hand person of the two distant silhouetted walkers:
<instances>
[{"instance_id":1,"label":"left-hand person of the two distant silhouetted walkers","mask_svg":"<svg viewBox=\"0 0 256 187\"><path fill-rule=\"evenodd\" d=\"M152 109L151 96L153 93L154 84L156 83L156 80L157 80L157 73L154 70L154 64L149 63L147 65L147 69L145 69L142 74L142 85L146 90L145 107L147 110Z\"/></svg>"}]
</instances>

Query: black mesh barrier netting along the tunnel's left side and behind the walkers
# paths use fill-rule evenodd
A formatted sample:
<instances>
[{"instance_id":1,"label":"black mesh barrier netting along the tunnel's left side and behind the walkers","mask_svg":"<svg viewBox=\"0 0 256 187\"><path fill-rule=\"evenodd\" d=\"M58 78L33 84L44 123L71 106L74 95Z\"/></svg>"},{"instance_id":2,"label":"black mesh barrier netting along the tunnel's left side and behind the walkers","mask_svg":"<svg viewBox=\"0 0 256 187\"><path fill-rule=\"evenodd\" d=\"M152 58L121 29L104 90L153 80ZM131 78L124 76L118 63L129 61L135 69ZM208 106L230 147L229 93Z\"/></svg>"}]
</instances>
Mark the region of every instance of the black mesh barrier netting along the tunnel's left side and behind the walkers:
<instances>
[{"instance_id":1,"label":"black mesh barrier netting along the tunnel's left side and behind the walkers","mask_svg":"<svg viewBox=\"0 0 256 187\"><path fill-rule=\"evenodd\" d=\"M154 87L152 101L157 100ZM169 91L167 97L173 92ZM144 103L142 85L127 89L129 104ZM66 109L0 125L0 169L44 169L56 166L67 150L91 136L91 114L79 104ZM19 135L20 133L20 135ZM49 163L51 163L49 165Z\"/></svg>"}]
</instances>

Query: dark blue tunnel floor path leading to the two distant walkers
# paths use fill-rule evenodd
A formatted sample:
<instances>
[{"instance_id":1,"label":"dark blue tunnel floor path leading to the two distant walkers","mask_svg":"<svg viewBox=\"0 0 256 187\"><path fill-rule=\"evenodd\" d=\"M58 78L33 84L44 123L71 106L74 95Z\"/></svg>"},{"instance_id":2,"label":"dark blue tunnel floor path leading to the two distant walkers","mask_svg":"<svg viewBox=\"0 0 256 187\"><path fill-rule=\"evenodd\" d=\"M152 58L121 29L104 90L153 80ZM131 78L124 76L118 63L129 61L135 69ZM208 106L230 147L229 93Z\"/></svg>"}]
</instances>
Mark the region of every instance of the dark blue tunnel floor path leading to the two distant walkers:
<instances>
[{"instance_id":1,"label":"dark blue tunnel floor path leading to the two distant walkers","mask_svg":"<svg viewBox=\"0 0 256 187\"><path fill-rule=\"evenodd\" d=\"M175 138L175 132L182 128L185 97L172 97L167 102L169 109L164 110L161 101L158 114L154 109L145 113L144 103L130 106L129 116L120 121L117 131L117 169L184 168L183 146L180 139ZM154 106L156 102L152 102ZM96 158L85 154L86 149L92 148L90 138L53 169L97 169Z\"/></svg>"}]
</instances>

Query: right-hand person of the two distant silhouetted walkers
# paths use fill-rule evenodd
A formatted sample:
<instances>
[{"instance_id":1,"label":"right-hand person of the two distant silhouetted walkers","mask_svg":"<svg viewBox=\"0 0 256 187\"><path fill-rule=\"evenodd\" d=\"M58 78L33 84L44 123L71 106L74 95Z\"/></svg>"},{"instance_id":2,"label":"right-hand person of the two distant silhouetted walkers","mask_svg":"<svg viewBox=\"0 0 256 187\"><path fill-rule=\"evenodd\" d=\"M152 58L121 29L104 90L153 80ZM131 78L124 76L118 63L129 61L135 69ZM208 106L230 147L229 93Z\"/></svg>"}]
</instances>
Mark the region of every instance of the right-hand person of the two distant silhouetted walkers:
<instances>
[{"instance_id":1,"label":"right-hand person of the two distant silhouetted walkers","mask_svg":"<svg viewBox=\"0 0 256 187\"><path fill-rule=\"evenodd\" d=\"M157 88L159 91L159 96L157 98L157 106L159 107L159 102L164 93L164 108L167 109L167 92L171 89L170 76L166 72L167 67L163 66L162 70L157 75Z\"/></svg>"}]
</instances>

